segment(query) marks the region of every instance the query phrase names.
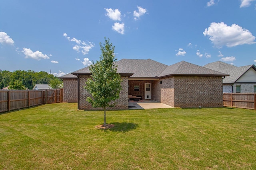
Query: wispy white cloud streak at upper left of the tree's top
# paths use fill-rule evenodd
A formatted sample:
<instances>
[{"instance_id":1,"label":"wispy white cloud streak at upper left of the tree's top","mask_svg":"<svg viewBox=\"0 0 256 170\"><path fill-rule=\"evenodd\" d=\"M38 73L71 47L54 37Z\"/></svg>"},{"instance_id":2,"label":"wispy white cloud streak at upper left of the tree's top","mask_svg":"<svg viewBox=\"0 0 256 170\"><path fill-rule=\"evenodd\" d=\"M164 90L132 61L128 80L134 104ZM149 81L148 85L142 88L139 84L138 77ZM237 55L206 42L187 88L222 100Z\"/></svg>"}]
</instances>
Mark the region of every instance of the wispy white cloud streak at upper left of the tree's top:
<instances>
[{"instance_id":1,"label":"wispy white cloud streak at upper left of the tree's top","mask_svg":"<svg viewBox=\"0 0 256 170\"><path fill-rule=\"evenodd\" d=\"M66 37L68 39L68 41L72 41L75 42L76 45L74 45L73 50L79 52L82 52L83 55L86 55L89 53L90 49L92 49L92 47L94 47L94 43L91 42L84 42L81 41L79 39L76 39L75 37L73 37L72 39L70 39L70 37L68 37L68 35L66 33L63 34L64 37Z\"/></svg>"}]
</instances>

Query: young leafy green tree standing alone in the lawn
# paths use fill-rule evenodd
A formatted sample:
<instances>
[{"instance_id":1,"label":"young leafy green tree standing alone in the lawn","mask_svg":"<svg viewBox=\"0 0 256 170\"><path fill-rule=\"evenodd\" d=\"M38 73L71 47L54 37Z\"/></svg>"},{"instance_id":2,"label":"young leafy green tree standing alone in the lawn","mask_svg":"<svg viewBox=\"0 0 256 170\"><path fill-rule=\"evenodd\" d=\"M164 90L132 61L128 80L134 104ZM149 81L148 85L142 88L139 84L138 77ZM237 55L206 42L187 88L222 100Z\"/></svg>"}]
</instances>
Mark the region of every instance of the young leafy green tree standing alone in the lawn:
<instances>
[{"instance_id":1,"label":"young leafy green tree standing alone in the lawn","mask_svg":"<svg viewBox=\"0 0 256 170\"><path fill-rule=\"evenodd\" d=\"M116 57L114 55L115 47L110 43L109 38L103 45L100 43L100 60L92 62L90 73L92 78L88 78L84 87L91 97L86 101L92 104L92 107L102 107L104 109L104 126L106 126L106 107L114 107L114 100L119 98L121 86L121 76L117 73Z\"/></svg>"}]
</instances>

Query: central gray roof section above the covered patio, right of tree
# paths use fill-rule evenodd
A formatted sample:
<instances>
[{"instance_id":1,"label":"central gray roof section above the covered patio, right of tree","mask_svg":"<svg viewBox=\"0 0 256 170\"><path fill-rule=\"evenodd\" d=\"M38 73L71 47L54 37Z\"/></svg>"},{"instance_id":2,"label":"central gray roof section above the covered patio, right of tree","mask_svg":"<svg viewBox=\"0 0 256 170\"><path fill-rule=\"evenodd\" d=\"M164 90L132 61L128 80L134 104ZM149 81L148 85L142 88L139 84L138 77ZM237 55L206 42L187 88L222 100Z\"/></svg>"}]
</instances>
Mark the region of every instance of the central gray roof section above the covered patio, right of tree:
<instances>
[{"instance_id":1,"label":"central gray roof section above the covered patio, right of tree","mask_svg":"<svg viewBox=\"0 0 256 170\"><path fill-rule=\"evenodd\" d=\"M118 67L133 73L132 77L156 77L164 71L165 64L151 59L122 59L116 62Z\"/></svg>"}]
</instances>

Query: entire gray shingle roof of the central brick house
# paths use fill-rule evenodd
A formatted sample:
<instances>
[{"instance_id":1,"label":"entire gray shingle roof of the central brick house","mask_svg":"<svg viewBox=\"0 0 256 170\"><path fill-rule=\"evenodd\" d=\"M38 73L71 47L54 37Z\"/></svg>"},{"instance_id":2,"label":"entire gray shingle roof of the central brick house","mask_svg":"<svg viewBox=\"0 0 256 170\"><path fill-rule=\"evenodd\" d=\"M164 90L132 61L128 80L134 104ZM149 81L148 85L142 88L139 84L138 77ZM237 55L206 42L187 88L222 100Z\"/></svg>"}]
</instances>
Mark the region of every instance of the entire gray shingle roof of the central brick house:
<instances>
[{"instance_id":1,"label":"entire gray shingle roof of the central brick house","mask_svg":"<svg viewBox=\"0 0 256 170\"><path fill-rule=\"evenodd\" d=\"M170 75L228 75L186 61L181 61L168 66L151 59L122 59L117 61L116 64L118 66L117 72L119 74L130 75L130 78L155 78ZM80 70L76 70L71 74L90 74L89 67L90 66L87 66ZM60 78L65 77L62 76Z\"/></svg>"}]
</instances>

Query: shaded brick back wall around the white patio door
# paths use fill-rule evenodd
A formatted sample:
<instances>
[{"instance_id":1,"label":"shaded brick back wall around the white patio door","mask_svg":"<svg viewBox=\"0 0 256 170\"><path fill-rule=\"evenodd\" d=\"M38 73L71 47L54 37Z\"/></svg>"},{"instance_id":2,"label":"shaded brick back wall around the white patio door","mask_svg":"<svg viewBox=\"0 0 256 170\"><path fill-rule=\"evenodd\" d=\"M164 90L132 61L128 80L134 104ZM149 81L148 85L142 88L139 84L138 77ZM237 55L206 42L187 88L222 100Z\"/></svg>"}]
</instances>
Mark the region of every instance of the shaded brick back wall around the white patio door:
<instances>
[{"instance_id":1,"label":"shaded brick back wall around the white patio door","mask_svg":"<svg viewBox=\"0 0 256 170\"><path fill-rule=\"evenodd\" d=\"M144 80L129 80L129 94L132 96L142 96L142 99L145 99L145 83L152 83L153 81L144 81ZM134 91L134 86L140 86L139 91ZM151 85L152 86L152 85ZM152 90L152 88L151 88ZM152 92L151 92L152 94ZM151 96L152 98L152 96Z\"/></svg>"}]
</instances>

